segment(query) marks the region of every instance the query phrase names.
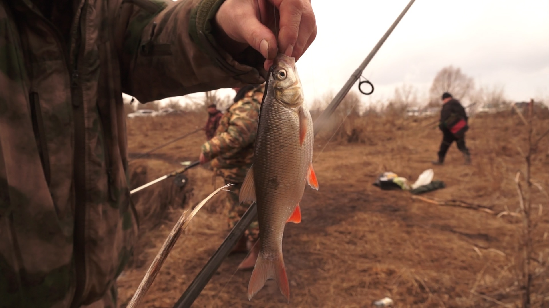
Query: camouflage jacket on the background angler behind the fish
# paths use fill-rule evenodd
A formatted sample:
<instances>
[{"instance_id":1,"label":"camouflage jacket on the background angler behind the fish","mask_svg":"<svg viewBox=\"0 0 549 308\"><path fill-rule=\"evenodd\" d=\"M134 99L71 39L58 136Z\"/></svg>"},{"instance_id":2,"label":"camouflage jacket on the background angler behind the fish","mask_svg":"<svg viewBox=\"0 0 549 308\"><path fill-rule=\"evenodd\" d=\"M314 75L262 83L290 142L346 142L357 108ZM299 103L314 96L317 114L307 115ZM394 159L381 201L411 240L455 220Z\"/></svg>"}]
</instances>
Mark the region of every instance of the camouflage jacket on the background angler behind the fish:
<instances>
[{"instance_id":1,"label":"camouflage jacket on the background angler behind the fish","mask_svg":"<svg viewBox=\"0 0 549 308\"><path fill-rule=\"evenodd\" d=\"M248 92L223 114L214 138L202 147L204 157L212 159L214 172L232 182L244 182L254 157L255 134L265 84Z\"/></svg>"}]
</instances>

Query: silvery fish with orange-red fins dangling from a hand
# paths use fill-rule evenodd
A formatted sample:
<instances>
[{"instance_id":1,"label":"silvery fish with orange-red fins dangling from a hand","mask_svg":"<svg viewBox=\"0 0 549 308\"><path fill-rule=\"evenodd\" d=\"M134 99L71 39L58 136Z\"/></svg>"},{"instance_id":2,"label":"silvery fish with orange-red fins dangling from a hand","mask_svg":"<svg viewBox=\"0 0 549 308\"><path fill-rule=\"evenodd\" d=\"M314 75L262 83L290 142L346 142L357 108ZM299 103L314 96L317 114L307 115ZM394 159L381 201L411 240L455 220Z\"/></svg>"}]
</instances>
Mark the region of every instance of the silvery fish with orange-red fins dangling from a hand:
<instances>
[{"instance_id":1,"label":"silvery fish with orange-red fins dangling from a hand","mask_svg":"<svg viewBox=\"0 0 549 308\"><path fill-rule=\"evenodd\" d=\"M240 202L255 201L260 252L248 285L248 299L274 279L290 299L282 258L282 234L287 222L301 222L299 202L305 185L318 190L312 168L313 125L301 89L295 58L278 54L269 70L257 127L254 164Z\"/></svg>"}]
</instances>

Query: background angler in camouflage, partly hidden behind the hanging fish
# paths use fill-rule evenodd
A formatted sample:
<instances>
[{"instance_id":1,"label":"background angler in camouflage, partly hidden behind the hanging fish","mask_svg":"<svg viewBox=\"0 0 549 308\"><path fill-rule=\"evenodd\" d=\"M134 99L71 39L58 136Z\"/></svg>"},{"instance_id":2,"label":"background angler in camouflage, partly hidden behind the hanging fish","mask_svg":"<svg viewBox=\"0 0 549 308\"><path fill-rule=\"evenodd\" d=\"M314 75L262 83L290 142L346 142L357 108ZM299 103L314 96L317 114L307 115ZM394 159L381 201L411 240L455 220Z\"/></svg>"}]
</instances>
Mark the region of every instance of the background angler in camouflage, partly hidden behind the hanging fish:
<instances>
[{"instance_id":1,"label":"background angler in camouflage, partly hidden behind the hanging fish","mask_svg":"<svg viewBox=\"0 0 549 308\"><path fill-rule=\"evenodd\" d=\"M248 85L238 89L236 102L223 114L216 135L201 146L200 161L204 163L211 160L211 167L216 175L225 179L225 184L234 184L225 197L225 208L229 211L229 230L233 229L251 205L251 202L240 203L238 196L253 163L257 122L264 92L265 84L258 87ZM233 249L233 252L247 252L254 248L251 249L248 258L239 265L239 269L254 267L259 253L259 245L255 245L257 239L259 223L256 218Z\"/></svg>"}]
</instances>

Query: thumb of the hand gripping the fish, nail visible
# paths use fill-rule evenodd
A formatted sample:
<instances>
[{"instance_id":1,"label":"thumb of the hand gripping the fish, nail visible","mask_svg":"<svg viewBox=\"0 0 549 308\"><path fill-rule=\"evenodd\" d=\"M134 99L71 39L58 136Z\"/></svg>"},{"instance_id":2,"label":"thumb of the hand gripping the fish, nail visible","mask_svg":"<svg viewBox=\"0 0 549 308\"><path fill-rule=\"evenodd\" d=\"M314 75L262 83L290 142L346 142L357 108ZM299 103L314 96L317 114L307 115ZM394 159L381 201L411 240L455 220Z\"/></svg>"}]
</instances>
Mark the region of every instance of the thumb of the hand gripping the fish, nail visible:
<instances>
[{"instance_id":1,"label":"thumb of the hand gripping the fish, nail visible","mask_svg":"<svg viewBox=\"0 0 549 308\"><path fill-rule=\"evenodd\" d=\"M240 31L246 42L260 52L265 59L275 59L277 54L275 35L255 16L241 22Z\"/></svg>"}]
</instances>

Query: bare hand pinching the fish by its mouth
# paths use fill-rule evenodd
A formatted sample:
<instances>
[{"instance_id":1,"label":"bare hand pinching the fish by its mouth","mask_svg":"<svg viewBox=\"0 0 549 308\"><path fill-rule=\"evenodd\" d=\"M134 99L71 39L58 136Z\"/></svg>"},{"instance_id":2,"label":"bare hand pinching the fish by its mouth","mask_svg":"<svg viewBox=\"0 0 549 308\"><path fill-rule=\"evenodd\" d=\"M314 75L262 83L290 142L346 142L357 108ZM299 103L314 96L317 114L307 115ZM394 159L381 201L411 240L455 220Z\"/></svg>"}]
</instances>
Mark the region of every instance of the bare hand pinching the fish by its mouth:
<instances>
[{"instance_id":1,"label":"bare hand pinching the fish by its mouth","mask_svg":"<svg viewBox=\"0 0 549 308\"><path fill-rule=\"evenodd\" d=\"M273 33L275 5L278 38ZM267 59L266 70L277 49L297 61L315 40L317 30L310 0L226 0L215 20L223 36L242 43L240 49L250 45L259 51Z\"/></svg>"}]
</instances>

